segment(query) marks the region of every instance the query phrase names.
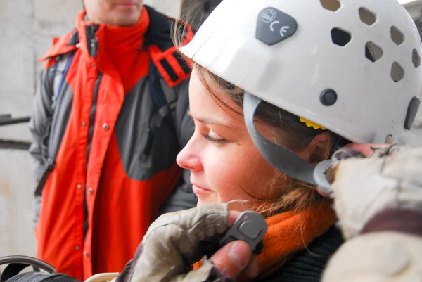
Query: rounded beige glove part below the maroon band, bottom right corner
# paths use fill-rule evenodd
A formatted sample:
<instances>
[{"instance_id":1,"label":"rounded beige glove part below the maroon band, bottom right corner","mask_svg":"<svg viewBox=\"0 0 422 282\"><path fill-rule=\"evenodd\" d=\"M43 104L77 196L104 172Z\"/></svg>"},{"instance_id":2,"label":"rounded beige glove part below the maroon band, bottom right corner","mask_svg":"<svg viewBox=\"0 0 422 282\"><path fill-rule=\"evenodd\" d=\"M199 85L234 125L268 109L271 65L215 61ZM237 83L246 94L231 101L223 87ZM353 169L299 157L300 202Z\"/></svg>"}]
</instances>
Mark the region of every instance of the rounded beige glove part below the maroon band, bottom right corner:
<instances>
[{"instance_id":1,"label":"rounded beige glove part below the maroon band, bottom right corner","mask_svg":"<svg viewBox=\"0 0 422 282\"><path fill-rule=\"evenodd\" d=\"M321 281L421 281L421 255L421 237L394 231L366 233L341 245Z\"/></svg>"}]
</instances>

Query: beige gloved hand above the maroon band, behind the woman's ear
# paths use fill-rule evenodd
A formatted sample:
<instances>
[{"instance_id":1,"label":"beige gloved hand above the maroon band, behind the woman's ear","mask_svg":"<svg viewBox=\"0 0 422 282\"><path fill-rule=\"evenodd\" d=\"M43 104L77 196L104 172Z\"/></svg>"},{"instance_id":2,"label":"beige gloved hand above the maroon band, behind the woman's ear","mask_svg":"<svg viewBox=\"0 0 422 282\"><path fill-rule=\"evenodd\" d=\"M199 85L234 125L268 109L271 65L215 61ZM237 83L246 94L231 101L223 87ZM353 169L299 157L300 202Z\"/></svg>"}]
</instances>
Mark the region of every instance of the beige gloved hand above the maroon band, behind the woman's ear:
<instances>
[{"instance_id":1,"label":"beige gloved hand above the maroon band, behind the woman's ear","mask_svg":"<svg viewBox=\"0 0 422 282\"><path fill-rule=\"evenodd\" d=\"M343 155L347 155L347 149ZM335 212L346 239L389 208L422 210L422 148L389 146L369 158L341 160L328 169Z\"/></svg>"}]
</instances>

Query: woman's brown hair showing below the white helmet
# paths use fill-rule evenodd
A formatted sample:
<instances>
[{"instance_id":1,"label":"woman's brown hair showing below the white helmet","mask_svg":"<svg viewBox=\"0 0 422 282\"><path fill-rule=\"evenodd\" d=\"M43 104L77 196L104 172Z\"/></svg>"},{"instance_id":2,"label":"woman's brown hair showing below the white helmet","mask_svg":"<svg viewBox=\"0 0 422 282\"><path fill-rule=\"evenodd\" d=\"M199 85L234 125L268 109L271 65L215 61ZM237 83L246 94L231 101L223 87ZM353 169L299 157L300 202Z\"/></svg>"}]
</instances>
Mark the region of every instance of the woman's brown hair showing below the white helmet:
<instances>
[{"instance_id":1,"label":"woman's brown hair showing below the white helmet","mask_svg":"<svg viewBox=\"0 0 422 282\"><path fill-rule=\"evenodd\" d=\"M218 77L198 64L195 64L195 69L200 81L203 83L207 89L207 93L213 100L219 103L224 110L229 110L229 112L236 115L243 115L243 113L239 113L237 110L233 109L233 107L226 105L226 103L215 95L216 91L224 94L231 98L231 101L234 101L236 105L243 108L243 89L226 82L226 80ZM275 105L271 105L264 101L257 108L255 119L276 129L277 132L275 135L283 136L281 140L282 145L295 152L307 148L315 136L324 132L322 129L307 127L306 124L300 122L297 115L288 113L286 110L282 110ZM328 148L328 151L329 150L330 148ZM328 154L329 152L327 152L327 157ZM275 200L258 199L250 195L248 191L245 191L250 196L254 197L257 200L257 203L260 203L257 205L258 212L261 212L266 216L278 214L279 212L286 210L300 212L306 210L307 207L321 198L319 193L312 186L304 184L292 177L288 177L286 174L278 173L278 175L270 181L269 186L274 188L274 185L279 184L279 181L275 180L279 179L280 176L284 177L286 180L284 181L285 187L283 187L283 196L276 198Z\"/></svg>"}]
</instances>

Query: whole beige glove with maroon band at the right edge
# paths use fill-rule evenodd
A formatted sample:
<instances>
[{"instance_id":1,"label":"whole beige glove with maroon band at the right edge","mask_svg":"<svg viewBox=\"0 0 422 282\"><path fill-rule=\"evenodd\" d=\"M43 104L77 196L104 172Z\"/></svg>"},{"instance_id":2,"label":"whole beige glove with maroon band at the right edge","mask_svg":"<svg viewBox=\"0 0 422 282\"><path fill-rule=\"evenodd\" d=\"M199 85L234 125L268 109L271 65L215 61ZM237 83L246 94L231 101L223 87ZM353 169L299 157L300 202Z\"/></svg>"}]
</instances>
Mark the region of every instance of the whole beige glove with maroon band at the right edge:
<instances>
[{"instance_id":1,"label":"whole beige glove with maroon band at the right edge","mask_svg":"<svg viewBox=\"0 0 422 282\"><path fill-rule=\"evenodd\" d=\"M322 281L420 280L421 236L394 228L359 233L370 219L380 220L380 212L390 210L387 219L397 222L399 211L422 210L422 148L390 146L370 158L343 160L331 169L335 211L343 235L351 239L331 257Z\"/></svg>"}]
</instances>

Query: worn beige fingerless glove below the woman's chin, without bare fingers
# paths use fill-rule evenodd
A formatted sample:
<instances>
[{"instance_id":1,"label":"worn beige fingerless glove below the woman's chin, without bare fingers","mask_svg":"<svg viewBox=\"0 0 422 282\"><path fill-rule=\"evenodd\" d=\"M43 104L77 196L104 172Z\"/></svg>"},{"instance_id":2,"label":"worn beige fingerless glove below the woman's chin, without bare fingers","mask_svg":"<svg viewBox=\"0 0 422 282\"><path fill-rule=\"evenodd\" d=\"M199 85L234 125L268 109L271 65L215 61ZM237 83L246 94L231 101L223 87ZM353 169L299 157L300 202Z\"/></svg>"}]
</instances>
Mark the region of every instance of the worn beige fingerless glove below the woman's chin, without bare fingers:
<instances>
[{"instance_id":1,"label":"worn beige fingerless glove below the woman's chin, without bare fingers","mask_svg":"<svg viewBox=\"0 0 422 282\"><path fill-rule=\"evenodd\" d=\"M224 233L228 215L226 205L218 203L163 214L149 227L129 274L117 281L229 281L215 276L216 269L207 259L199 269L190 268L201 259L198 241Z\"/></svg>"}]
</instances>

